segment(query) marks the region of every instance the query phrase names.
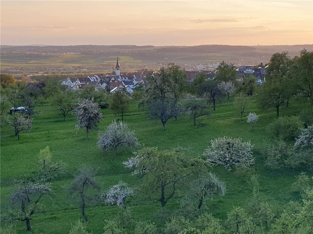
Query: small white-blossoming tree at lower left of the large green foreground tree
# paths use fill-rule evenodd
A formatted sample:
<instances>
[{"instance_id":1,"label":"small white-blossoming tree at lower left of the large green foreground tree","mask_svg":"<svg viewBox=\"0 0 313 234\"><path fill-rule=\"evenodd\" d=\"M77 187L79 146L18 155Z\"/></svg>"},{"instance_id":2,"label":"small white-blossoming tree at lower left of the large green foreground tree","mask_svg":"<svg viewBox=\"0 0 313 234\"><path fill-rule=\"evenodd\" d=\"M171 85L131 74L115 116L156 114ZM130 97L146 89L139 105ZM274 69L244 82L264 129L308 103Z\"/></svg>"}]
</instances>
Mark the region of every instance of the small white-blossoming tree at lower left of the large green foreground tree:
<instances>
[{"instance_id":1,"label":"small white-blossoming tree at lower left of the large green foreground tree","mask_svg":"<svg viewBox=\"0 0 313 234\"><path fill-rule=\"evenodd\" d=\"M126 197L134 196L134 191L127 187L124 182L110 187L109 191L101 197L105 199L105 203L110 205L118 205L126 210Z\"/></svg>"}]
</instances>

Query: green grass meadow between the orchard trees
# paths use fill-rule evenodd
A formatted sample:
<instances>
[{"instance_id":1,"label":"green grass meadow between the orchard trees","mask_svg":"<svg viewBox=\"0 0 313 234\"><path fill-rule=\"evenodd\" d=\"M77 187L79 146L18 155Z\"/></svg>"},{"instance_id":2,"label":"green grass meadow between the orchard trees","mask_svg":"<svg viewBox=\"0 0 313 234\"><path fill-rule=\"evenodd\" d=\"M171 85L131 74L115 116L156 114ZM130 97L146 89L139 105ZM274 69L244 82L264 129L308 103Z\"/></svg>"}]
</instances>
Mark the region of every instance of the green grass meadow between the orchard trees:
<instances>
[{"instance_id":1,"label":"green grass meadow between the orchard trees","mask_svg":"<svg viewBox=\"0 0 313 234\"><path fill-rule=\"evenodd\" d=\"M292 170L280 169L275 172L264 167L263 155L264 147L274 140L271 137L267 125L276 115L275 109L258 110L252 102L248 108L249 112L256 112L259 121L251 130L244 118L234 114L233 99L224 100L218 104L216 111L211 116L199 117L197 126L192 125L192 120L188 116L180 117L168 121L166 131L162 131L160 121L150 120L145 112L137 108L137 101L131 100L130 113L125 116L125 121L130 128L135 130L136 137L144 147L158 147L159 149L171 149L179 144L182 147L191 147L192 152L186 157L197 157L202 155L205 148L210 145L211 139L217 137L241 137L243 141L251 141L254 144L254 157L256 158L255 169L260 176L260 196L273 206L275 214L281 212L290 200L301 201L300 194L291 192L290 185L294 182L294 175L301 171L307 172L309 176L313 173L305 169ZM281 115L296 115L309 105L299 103L295 100L290 102L290 107L281 108ZM67 164L65 173L52 182L53 196L44 198L44 210L33 216L31 225L33 233L68 233L71 225L77 219L82 220L80 214L80 204L78 200L69 197L69 186L73 181L73 173L82 164L99 167L98 176L95 178L102 190L106 190L110 185L119 181L124 181L132 188L140 185L140 179L131 176L121 163L132 156L131 149L120 149L118 157L114 160L113 152L101 152L97 146L97 133L92 131L90 139L85 140L85 132L77 132L75 129L74 117L67 117L63 122L63 117L59 116L47 101L38 110L41 115L34 116L33 127L29 132L21 133L18 141L13 131L8 127L1 128L1 212L5 212L10 195L13 192L12 180L21 178L24 174L32 173L33 167L38 160L38 152L46 146L51 148L54 160L61 159ZM120 118L113 115L109 109L102 110L103 120L99 125L99 131L104 130L113 119ZM246 115L248 114L246 113ZM292 142L290 142L292 143ZM251 200L252 188L247 182L241 182L233 176L233 172L225 170L223 167L213 167L212 171L222 178L227 187L226 195L220 199L215 198L209 204L209 212L214 217L224 221L227 212L235 205L246 207ZM182 197L183 191L179 191L174 199L167 204L166 217L170 217L178 210L178 201ZM128 200L133 220L153 220L161 228L161 205L154 202L149 197L142 197L135 194ZM116 206L106 206L98 202L88 204L85 209L89 218L88 231L101 233L104 220L115 218L120 208ZM18 233L25 233L25 223L16 222ZM133 233L133 229L128 233Z\"/></svg>"}]
</instances>

